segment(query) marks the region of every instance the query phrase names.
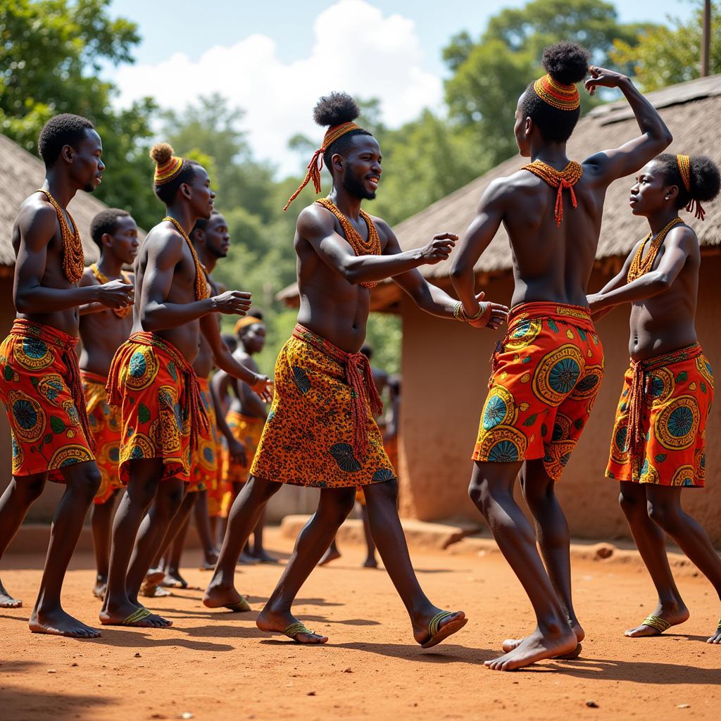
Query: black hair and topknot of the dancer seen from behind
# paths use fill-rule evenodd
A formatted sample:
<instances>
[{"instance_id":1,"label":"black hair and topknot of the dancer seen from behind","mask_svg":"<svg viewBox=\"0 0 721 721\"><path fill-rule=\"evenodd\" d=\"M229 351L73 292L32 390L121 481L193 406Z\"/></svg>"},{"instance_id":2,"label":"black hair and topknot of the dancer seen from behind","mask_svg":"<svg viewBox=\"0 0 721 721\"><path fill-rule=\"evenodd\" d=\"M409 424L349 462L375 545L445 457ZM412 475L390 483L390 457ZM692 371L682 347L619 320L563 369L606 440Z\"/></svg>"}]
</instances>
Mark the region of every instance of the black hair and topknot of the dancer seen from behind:
<instances>
[{"instance_id":1,"label":"black hair and topknot of the dancer seen from behind","mask_svg":"<svg viewBox=\"0 0 721 721\"><path fill-rule=\"evenodd\" d=\"M582 81L588 74L588 50L578 43L556 43L543 52L541 65L558 83L571 85ZM571 137L573 128L580 118L580 108L559 110L542 100L534 91L531 82L526 87L521 102L523 118L531 118L548 141L564 143Z\"/></svg>"}]
</instances>

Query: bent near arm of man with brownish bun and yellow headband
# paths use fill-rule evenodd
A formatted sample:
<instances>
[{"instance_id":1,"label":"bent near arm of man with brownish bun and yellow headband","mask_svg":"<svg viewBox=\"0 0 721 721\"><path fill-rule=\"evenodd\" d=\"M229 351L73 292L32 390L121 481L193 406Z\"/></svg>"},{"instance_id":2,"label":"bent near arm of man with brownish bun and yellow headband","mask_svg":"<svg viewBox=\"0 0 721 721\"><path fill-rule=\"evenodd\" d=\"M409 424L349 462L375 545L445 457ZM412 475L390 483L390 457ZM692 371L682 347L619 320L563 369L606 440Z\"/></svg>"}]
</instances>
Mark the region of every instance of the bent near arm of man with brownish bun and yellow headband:
<instances>
[{"instance_id":1,"label":"bent near arm of man with brownish bun and yellow headband","mask_svg":"<svg viewBox=\"0 0 721 721\"><path fill-rule=\"evenodd\" d=\"M213 298L203 298L193 303L169 303L166 300L175 267L182 260L184 250L185 241L172 231L156 239L148 249L141 296L141 323L146 331L177 328L207 316L214 310Z\"/></svg>"}]
</instances>

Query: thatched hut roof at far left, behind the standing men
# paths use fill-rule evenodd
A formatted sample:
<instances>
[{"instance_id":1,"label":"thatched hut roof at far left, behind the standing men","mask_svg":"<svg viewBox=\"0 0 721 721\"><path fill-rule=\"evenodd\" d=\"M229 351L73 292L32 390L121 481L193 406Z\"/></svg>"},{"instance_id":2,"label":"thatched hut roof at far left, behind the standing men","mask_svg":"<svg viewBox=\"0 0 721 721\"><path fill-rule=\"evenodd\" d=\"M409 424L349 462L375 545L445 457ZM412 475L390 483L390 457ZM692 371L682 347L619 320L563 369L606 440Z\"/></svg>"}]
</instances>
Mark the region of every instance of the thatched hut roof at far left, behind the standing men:
<instances>
[{"instance_id":1,"label":"thatched hut roof at far left, behind the standing men","mask_svg":"<svg viewBox=\"0 0 721 721\"><path fill-rule=\"evenodd\" d=\"M10 138L0 135L0 266L15 265L12 226L22 201L43 185L45 166ZM80 191L69 205L83 241L85 261L97 260L97 245L90 238L90 221L107 208L97 198Z\"/></svg>"}]
</instances>

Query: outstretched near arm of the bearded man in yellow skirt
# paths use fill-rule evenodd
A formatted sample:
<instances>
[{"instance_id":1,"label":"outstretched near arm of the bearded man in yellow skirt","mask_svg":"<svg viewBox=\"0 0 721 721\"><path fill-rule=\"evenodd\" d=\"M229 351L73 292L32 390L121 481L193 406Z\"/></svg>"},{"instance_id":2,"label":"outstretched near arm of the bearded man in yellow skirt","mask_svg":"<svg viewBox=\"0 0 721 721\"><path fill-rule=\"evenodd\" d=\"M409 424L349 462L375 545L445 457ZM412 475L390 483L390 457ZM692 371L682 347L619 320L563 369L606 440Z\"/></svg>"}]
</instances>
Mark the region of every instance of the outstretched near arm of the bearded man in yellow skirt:
<instances>
[{"instance_id":1,"label":"outstretched near arm of the bearded man in yellow skirt","mask_svg":"<svg viewBox=\"0 0 721 721\"><path fill-rule=\"evenodd\" d=\"M392 278L419 265L435 265L446 260L458 236L441 233L423 248L394 255L355 255L353 248L336 233L332 213L314 203L298 216L298 234L306 239L319 257L348 283L372 283ZM400 251L400 249L399 249Z\"/></svg>"}]
</instances>

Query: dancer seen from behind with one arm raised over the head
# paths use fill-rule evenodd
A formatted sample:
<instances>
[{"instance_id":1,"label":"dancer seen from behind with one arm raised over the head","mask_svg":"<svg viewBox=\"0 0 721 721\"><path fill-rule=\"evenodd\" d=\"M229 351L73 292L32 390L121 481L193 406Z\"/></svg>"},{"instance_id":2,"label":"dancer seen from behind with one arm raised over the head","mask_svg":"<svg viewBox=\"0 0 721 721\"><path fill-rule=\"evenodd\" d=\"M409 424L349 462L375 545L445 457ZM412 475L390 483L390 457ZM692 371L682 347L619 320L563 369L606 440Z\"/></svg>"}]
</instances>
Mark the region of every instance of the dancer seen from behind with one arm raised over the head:
<instances>
[{"instance_id":1,"label":"dancer seen from behind with one arm raised over the head","mask_svg":"<svg viewBox=\"0 0 721 721\"><path fill-rule=\"evenodd\" d=\"M538 625L525 639L505 642L508 653L485 662L501 671L580 653L583 629L571 602L568 526L554 484L588 421L603 376L586 286L606 188L671 142L660 115L631 81L589 68L580 45L546 48L543 66L548 74L518 100L514 127L521 156L533 162L490 184L451 268L465 313L477 313L473 267L503 223L516 288L508 332L493 358L469 494L526 590ZM622 90L641 135L578 164L568 160L566 141L580 115L575 83L588 72L589 92L597 86ZM534 530L513 500L519 473L545 567Z\"/></svg>"}]
</instances>

